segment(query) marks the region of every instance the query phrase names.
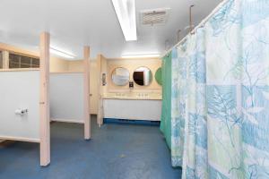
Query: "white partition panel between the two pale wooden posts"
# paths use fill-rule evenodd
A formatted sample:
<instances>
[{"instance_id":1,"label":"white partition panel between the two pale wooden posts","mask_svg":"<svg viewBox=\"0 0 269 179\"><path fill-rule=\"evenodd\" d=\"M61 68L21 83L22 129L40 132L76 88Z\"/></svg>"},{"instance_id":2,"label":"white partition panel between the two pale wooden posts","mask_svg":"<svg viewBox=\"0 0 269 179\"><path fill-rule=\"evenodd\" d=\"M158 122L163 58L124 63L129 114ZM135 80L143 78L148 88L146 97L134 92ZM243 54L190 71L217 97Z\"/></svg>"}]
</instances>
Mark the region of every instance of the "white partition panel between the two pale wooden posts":
<instances>
[{"instance_id":1,"label":"white partition panel between the two pale wooden posts","mask_svg":"<svg viewBox=\"0 0 269 179\"><path fill-rule=\"evenodd\" d=\"M50 74L50 118L83 123L83 73Z\"/></svg>"}]
</instances>

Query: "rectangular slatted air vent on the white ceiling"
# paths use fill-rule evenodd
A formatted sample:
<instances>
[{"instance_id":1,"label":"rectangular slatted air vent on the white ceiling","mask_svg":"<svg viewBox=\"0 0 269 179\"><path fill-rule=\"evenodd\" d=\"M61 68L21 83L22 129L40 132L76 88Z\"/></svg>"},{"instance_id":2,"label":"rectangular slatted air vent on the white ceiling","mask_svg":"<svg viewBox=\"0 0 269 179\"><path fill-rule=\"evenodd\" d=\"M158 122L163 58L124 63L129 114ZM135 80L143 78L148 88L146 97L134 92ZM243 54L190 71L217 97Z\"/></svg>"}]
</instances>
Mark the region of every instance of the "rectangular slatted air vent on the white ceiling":
<instances>
[{"instance_id":1,"label":"rectangular slatted air vent on the white ceiling","mask_svg":"<svg viewBox=\"0 0 269 179\"><path fill-rule=\"evenodd\" d=\"M141 12L143 25L164 24L168 20L169 8L154 9Z\"/></svg>"}]
</instances>

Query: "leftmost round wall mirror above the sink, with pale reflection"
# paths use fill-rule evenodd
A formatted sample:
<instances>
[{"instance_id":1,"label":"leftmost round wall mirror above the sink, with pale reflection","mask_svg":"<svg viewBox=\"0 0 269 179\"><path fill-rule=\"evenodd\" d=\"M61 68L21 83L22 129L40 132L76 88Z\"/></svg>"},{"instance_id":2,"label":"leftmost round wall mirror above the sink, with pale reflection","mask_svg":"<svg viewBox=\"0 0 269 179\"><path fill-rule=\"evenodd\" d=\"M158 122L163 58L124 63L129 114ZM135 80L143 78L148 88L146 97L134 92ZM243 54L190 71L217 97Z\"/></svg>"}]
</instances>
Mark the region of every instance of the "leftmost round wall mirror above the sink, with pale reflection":
<instances>
[{"instance_id":1,"label":"leftmost round wall mirror above the sink, with pale reflection","mask_svg":"<svg viewBox=\"0 0 269 179\"><path fill-rule=\"evenodd\" d=\"M112 72L112 81L117 86L125 86L129 82L130 73L126 68L116 68Z\"/></svg>"}]
</instances>

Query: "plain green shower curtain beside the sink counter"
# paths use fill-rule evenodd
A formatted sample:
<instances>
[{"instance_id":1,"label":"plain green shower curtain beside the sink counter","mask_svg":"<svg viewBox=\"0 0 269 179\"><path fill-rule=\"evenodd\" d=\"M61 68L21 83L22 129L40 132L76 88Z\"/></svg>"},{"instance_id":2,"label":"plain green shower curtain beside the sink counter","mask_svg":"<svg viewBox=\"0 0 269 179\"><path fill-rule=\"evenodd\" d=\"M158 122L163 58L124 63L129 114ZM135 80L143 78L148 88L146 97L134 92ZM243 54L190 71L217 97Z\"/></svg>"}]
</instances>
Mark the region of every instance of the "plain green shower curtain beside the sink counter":
<instances>
[{"instance_id":1,"label":"plain green shower curtain beside the sink counter","mask_svg":"<svg viewBox=\"0 0 269 179\"><path fill-rule=\"evenodd\" d=\"M161 132L171 147L171 53L164 56L161 64L162 105Z\"/></svg>"}]
</instances>

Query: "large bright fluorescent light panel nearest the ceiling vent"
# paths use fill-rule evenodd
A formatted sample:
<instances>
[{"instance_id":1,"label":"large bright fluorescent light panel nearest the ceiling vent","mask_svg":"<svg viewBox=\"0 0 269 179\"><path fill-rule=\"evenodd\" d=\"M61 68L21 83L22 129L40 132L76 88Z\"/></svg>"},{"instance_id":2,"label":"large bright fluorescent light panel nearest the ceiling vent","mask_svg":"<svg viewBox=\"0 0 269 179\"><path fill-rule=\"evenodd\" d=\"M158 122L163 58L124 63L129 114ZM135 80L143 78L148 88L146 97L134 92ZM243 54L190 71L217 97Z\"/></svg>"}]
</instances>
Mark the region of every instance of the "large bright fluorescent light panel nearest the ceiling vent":
<instances>
[{"instance_id":1,"label":"large bright fluorescent light panel nearest the ceiling vent","mask_svg":"<svg viewBox=\"0 0 269 179\"><path fill-rule=\"evenodd\" d=\"M134 0L112 0L126 41L137 40Z\"/></svg>"}]
</instances>

